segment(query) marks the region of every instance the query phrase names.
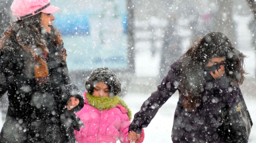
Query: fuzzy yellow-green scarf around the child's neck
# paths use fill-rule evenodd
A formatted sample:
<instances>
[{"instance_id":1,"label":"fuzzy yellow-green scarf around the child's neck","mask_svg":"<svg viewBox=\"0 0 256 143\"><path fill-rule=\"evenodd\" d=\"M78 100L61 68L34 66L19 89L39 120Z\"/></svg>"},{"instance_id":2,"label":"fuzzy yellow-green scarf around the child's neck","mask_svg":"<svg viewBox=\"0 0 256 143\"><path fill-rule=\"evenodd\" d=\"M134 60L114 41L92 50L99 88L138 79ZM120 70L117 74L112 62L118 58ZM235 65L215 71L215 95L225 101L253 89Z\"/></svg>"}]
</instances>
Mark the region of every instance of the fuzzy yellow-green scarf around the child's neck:
<instances>
[{"instance_id":1,"label":"fuzzy yellow-green scarf around the child's neck","mask_svg":"<svg viewBox=\"0 0 256 143\"><path fill-rule=\"evenodd\" d=\"M110 98L110 97L101 98L101 97L97 97L97 96L92 96L87 92L86 98L87 98L88 103L92 107L94 107L100 111L108 110L113 107L116 107L117 104L122 105L123 107L125 107L125 109L127 109L127 111L128 111L127 115L129 117L129 120L131 121L131 110L128 108L125 101L123 101L120 97L113 96L113 98Z\"/></svg>"}]
</instances>

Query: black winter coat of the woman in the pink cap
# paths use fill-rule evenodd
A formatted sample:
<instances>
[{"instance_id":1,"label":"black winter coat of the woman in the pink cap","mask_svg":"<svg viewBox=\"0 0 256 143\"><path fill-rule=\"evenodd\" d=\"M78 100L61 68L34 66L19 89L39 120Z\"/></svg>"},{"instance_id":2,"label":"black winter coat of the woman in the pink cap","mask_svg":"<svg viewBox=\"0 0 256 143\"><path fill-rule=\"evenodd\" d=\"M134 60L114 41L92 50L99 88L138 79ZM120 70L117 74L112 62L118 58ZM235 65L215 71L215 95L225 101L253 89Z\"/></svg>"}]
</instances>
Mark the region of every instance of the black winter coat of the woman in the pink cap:
<instances>
[{"instance_id":1,"label":"black winter coat of the woman in the pink cap","mask_svg":"<svg viewBox=\"0 0 256 143\"><path fill-rule=\"evenodd\" d=\"M80 129L75 111L84 98L71 84L61 46L47 38L49 82L36 85L32 55L15 39L15 32L5 41L0 53L0 97L8 92L9 107L0 142L75 142L74 129ZM69 98L80 102L68 111Z\"/></svg>"}]
</instances>

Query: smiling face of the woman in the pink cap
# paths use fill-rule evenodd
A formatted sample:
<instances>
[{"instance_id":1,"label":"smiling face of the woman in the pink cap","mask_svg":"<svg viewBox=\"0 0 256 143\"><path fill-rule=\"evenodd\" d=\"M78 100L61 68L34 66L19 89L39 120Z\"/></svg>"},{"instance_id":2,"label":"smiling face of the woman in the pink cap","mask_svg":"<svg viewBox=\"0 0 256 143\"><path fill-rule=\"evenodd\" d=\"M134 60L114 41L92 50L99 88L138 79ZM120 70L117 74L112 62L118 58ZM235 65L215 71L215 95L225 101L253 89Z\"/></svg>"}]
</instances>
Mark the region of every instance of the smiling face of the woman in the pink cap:
<instances>
[{"instance_id":1,"label":"smiling face of the woman in the pink cap","mask_svg":"<svg viewBox=\"0 0 256 143\"><path fill-rule=\"evenodd\" d=\"M53 14L48 13L42 13L41 14L41 24L46 29L46 32L51 33L51 28L49 28L49 25L52 24L53 20L55 20L55 17Z\"/></svg>"}]
</instances>

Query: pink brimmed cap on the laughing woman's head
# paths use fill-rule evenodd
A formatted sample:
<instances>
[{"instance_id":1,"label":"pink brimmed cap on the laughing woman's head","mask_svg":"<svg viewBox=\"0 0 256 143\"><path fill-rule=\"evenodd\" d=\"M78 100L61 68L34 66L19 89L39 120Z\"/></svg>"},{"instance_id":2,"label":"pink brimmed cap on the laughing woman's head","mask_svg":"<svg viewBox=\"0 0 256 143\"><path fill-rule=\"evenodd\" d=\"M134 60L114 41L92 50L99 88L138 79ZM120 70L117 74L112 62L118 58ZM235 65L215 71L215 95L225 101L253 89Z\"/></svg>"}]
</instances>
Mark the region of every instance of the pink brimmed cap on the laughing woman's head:
<instances>
[{"instance_id":1,"label":"pink brimmed cap on the laughing woman's head","mask_svg":"<svg viewBox=\"0 0 256 143\"><path fill-rule=\"evenodd\" d=\"M15 0L11 5L13 15L19 20L28 18L40 12L55 13L59 11L59 7L49 4L50 0Z\"/></svg>"}]
</instances>

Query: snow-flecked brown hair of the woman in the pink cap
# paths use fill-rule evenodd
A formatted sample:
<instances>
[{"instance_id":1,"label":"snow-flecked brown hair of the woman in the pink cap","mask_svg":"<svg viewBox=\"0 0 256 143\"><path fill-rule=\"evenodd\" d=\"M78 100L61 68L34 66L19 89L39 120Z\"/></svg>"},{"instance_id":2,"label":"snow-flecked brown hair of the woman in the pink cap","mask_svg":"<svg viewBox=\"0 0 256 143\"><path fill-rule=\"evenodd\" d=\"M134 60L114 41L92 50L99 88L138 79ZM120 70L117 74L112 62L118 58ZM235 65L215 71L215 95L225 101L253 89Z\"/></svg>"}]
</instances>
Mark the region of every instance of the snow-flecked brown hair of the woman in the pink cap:
<instances>
[{"instance_id":1,"label":"snow-flecked brown hair of the woman in the pink cap","mask_svg":"<svg viewBox=\"0 0 256 143\"><path fill-rule=\"evenodd\" d=\"M42 13L38 13L34 16L30 16L23 20L16 20L15 22L11 23L1 36L0 51L4 47L5 41L7 40L7 38L9 38L9 36L11 36L11 34L13 34L14 32L17 33L19 30L22 30L21 32L22 38L33 36L33 38L31 39L34 40L28 43L20 43L24 47L24 49L29 49L28 47L29 43L36 43L40 45L40 47L42 47L45 53L48 53L46 43L44 42L46 38L44 38L45 36L44 34L42 34L44 32L42 32L41 15ZM51 32L52 32L51 37L53 41L59 44L62 43L61 35L59 34L59 31L57 30L57 28L52 26ZM15 38L15 40L18 42L19 37L20 36L15 36L13 38Z\"/></svg>"}]
</instances>

